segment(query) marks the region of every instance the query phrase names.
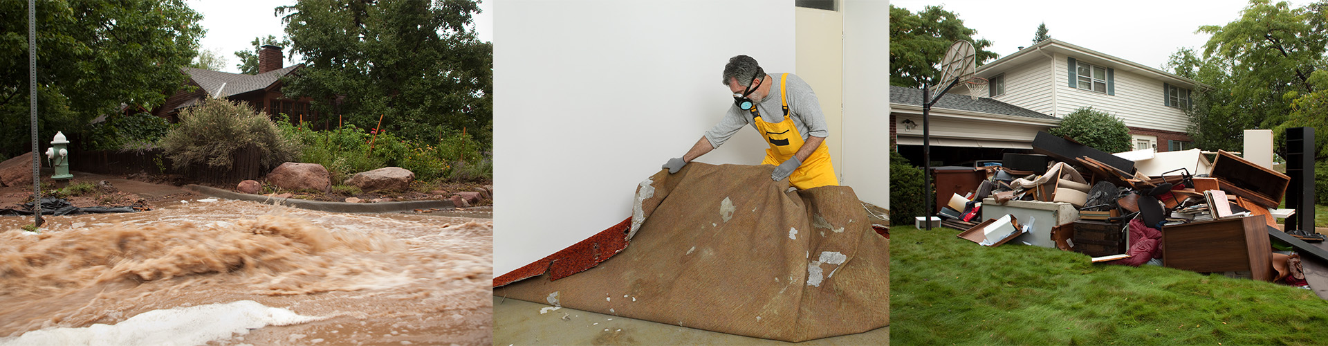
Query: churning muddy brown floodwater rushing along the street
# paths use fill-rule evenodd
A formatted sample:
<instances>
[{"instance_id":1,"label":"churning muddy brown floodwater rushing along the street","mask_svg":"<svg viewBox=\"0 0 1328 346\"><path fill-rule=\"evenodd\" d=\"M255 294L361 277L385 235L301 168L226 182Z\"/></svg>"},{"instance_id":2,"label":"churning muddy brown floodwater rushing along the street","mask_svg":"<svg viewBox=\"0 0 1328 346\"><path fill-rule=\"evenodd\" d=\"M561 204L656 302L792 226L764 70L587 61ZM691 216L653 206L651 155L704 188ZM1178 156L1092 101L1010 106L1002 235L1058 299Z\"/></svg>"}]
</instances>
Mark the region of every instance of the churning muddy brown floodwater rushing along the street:
<instances>
[{"instance_id":1,"label":"churning muddy brown floodwater rushing along the street","mask_svg":"<svg viewBox=\"0 0 1328 346\"><path fill-rule=\"evenodd\" d=\"M0 341L256 301L317 321L208 345L490 345L493 221L244 201L0 217Z\"/></svg>"}]
</instances>

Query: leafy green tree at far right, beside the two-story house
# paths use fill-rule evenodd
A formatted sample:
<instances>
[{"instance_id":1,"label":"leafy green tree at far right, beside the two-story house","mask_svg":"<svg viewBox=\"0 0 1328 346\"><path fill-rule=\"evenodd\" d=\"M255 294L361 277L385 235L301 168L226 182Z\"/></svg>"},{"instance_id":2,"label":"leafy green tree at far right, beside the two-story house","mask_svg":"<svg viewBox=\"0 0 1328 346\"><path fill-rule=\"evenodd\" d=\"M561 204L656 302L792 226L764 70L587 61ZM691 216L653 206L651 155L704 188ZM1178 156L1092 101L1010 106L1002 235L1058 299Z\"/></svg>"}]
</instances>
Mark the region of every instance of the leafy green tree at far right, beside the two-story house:
<instances>
[{"instance_id":1,"label":"leafy green tree at far right, beside the two-story house","mask_svg":"<svg viewBox=\"0 0 1328 346\"><path fill-rule=\"evenodd\" d=\"M1240 17L1226 25L1204 25L1212 37L1203 57L1182 49L1171 57L1178 75L1212 86L1199 92L1191 137L1204 149L1234 149L1243 129L1274 129L1324 124L1328 105L1328 3L1293 8L1251 0ZM1316 136L1319 157L1328 136ZM1275 141L1280 144L1282 141ZM1211 145L1211 146L1206 146ZM1280 145L1279 145L1279 150Z\"/></svg>"}]
</instances>

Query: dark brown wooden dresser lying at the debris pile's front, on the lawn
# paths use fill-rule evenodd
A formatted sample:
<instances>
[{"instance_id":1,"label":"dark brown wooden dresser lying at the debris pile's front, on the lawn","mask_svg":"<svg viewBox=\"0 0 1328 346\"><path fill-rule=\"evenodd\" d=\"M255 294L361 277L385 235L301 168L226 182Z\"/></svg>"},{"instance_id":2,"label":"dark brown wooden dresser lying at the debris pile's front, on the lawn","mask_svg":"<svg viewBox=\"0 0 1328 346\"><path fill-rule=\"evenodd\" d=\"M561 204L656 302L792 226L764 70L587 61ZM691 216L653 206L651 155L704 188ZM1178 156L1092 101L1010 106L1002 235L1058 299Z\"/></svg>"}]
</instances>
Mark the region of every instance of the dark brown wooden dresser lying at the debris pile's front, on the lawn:
<instances>
[{"instance_id":1,"label":"dark brown wooden dresser lying at the debris pile's front, on the lawn","mask_svg":"<svg viewBox=\"0 0 1328 346\"><path fill-rule=\"evenodd\" d=\"M1166 226L1162 265L1199 273L1250 271L1254 279L1272 281L1266 228L1258 216Z\"/></svg>"}]
</instances>

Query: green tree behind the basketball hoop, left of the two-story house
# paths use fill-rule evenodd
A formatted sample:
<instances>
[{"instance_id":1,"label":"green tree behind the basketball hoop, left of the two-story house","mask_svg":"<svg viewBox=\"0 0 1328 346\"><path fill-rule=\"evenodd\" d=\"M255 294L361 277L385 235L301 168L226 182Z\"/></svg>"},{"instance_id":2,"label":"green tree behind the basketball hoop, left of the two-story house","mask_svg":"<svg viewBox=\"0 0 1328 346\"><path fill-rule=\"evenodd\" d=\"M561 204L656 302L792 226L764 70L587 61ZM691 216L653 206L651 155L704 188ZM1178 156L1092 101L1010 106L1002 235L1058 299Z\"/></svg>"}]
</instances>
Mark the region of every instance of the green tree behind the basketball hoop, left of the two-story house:
<instances>
[{"instance_id":1,"label":"green tree behind the basketball hoop, left of the two-story house","mask_svg":"<svg viewBox=\"0 0 1328 346\"><path fill-rule=\"evenodd\" d=\"M920 88L940 79L940 60L955 41L968 41L977 51L977 65L996 59L988 40L973 40L977 31L964 27L957 15L942 7L918 13L890 5L890 85Z\"/></svg>"}]
</instances>

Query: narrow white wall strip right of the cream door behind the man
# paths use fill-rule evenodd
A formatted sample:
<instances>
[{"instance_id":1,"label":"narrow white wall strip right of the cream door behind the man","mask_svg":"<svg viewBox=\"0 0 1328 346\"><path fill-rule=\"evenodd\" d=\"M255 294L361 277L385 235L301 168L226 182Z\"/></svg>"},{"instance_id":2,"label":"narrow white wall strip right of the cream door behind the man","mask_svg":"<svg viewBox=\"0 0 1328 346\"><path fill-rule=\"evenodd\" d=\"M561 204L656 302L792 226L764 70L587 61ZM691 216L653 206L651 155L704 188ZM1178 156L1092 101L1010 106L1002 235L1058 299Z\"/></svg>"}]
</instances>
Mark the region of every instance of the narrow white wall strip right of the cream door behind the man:
<instances>
[{"instance_id":1,"label":"narrow white wall strip right of the cream door behind the man","mask_svg":"<svg viewBox=\"0 0 1328 346\"><path fill-rule=\"evenodd\" d=\"M890 1L843 0L843 180L890 208ZM838 158L838 157L837 157Z\"/></svg>"}]
</instances>

